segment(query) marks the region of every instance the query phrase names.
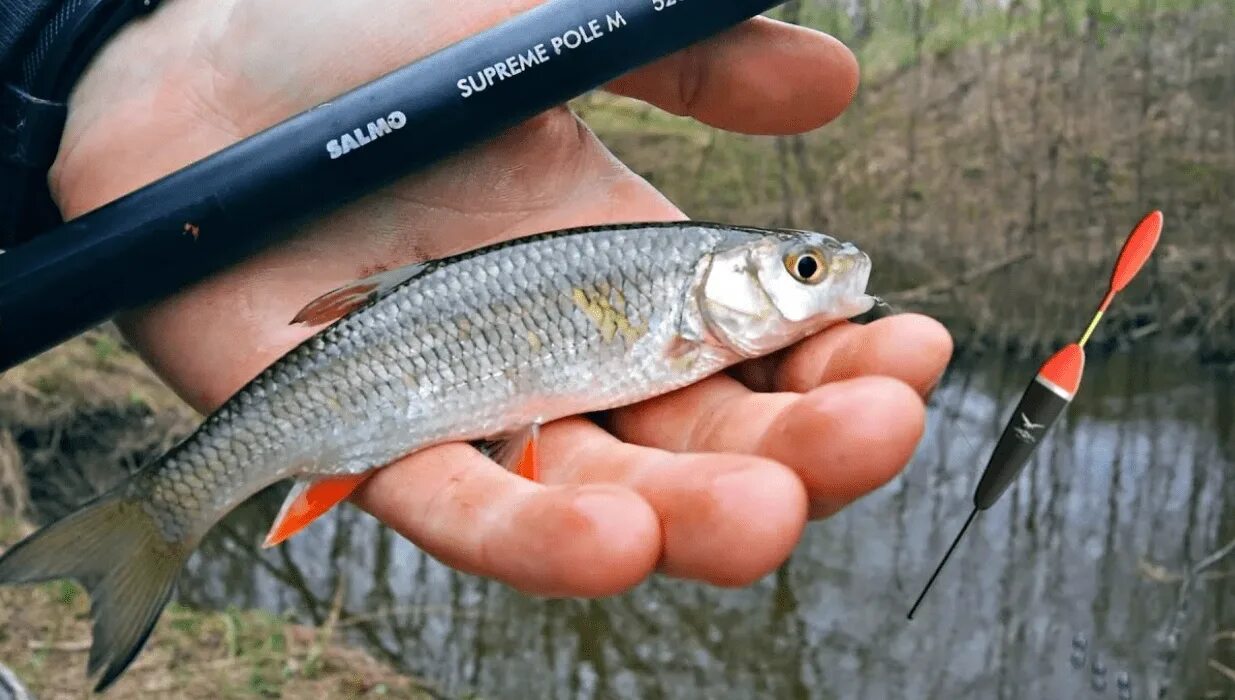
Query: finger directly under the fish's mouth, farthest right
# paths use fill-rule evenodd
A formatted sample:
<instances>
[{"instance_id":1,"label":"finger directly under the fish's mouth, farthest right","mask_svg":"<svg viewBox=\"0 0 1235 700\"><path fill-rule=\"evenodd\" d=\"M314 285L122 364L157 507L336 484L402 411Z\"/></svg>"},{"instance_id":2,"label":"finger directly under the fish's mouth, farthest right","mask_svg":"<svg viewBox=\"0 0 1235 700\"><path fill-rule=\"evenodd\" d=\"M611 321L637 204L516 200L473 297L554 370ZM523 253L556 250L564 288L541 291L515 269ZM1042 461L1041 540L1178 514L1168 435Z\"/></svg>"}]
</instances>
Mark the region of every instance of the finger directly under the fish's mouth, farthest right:
<instances>
[{"instance_id":1,"label":"finger directly under the fish's mouth, farthest right","mask_svg":"<svg viewBox=\"0 0 1235 700\"><path fill-rule=\"evenodd\" d=\"M772 373L781 391L871 374L894 377L926 396L952 357L952 337L939 321L902 314L878 321L837 323L789 348Z\"/></svg>"}]
</instances>

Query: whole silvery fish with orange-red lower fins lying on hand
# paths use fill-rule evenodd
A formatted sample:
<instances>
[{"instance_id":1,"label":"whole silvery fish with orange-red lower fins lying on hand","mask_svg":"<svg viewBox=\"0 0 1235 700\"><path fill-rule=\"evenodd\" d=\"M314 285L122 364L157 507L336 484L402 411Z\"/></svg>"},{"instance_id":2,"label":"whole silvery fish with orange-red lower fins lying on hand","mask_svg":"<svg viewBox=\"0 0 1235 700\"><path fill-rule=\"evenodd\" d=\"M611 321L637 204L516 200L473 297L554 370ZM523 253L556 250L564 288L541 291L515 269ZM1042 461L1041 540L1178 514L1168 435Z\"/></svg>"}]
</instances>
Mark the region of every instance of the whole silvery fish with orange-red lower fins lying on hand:
<instances>
[{"instance_id":1,"label":"whole silvery fish with orange-red lower fins lying on hand","mask_svg":"<svg viewBox=\"0 0 1235 700\"><path fill-rule=\"evenodd\" d=\"M380 272L311 301L322 326L127 480L0 557L0 584L80 581L86 673L141 652L206 533L295 479L267 543L374 470L471 442L535 478L540 427L635 404L869 311L871 259L811 231L577 227Z\"/></svg>"}]
</instances>

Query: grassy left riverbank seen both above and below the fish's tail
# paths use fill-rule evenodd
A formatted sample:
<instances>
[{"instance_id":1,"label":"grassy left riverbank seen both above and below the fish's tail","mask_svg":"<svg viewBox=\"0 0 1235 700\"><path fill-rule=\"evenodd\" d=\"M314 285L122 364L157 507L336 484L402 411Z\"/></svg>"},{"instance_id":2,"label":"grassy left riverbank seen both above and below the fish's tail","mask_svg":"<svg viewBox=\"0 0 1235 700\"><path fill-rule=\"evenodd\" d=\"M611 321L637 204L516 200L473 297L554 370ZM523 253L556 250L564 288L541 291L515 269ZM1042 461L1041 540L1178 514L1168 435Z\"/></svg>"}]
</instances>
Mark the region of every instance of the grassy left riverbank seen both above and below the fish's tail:
<instances>
[{"instance_id":1,"label":"grassy left riverbank seen both above and below the fish's tail","mask_svg":"<svg viewBox=\"0 0 1235 700\"><path fill-rule=\"evenodd\" d=\"M30 532L28 522L59 517L110 486L196 421L111 327L0 375L0 549ZM88 698L88 611L72 584L0 589L0 662L40 700ZM263 611L173 604L107 698L431 696L331 631L329 620L309 627Z\"/></svg>"}]
</instances>

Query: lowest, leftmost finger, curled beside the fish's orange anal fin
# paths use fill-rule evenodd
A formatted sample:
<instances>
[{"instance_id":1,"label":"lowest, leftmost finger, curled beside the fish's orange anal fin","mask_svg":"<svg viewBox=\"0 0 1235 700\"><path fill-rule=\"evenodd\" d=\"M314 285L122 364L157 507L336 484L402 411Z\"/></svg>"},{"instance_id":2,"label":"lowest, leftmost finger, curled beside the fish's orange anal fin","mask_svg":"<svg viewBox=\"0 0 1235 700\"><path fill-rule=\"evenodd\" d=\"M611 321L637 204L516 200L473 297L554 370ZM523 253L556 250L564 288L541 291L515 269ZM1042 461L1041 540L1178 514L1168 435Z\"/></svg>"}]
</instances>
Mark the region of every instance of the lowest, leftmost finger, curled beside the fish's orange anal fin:
<instances>
[{"instance_id":1,"label":"lowest, leftmost finger, curled beside the fish's orange anal fin","mask_svg":"<svg viewBox=\"0 0 1235 700\"><path fill-rule=\"evenodd\" d=\"M535 595L603 596L652 573L656 514L621 486L543 486L464 444L378 470L354 502L445 564Z\"/></svg>"}]
</instances>

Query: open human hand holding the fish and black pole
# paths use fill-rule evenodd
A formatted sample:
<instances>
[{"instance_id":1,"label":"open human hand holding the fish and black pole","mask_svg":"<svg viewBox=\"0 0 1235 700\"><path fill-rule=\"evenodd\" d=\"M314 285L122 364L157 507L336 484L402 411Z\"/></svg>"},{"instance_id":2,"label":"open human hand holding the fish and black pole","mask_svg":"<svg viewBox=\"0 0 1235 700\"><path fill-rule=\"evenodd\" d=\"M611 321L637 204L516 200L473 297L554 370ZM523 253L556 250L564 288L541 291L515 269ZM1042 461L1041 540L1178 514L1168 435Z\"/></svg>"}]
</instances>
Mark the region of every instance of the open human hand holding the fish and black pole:
<instances>
[{"instance_id":1,"label":"open human hand holding the fish and black pole","mask_svg":"<svg viewBox=\"0 0 1235 700\"><path fill-rule=\"evenodd\" d=\"M164 4L114 38L79 83L53 191L65 216L80 215L536 4ZM835 40L756 20L610 89L720 128L793 133L834 119L856 84ZM288 325L300 306L379 265L567 226L683 217L558 109L121 326L206 411L312 332ZM841 237L860 242L861 232ZM923 432L923 396L950 354L946 331L921 316L842 323L732 375L613 411L608 430L582 417L546 426L543 483L447 444L379 470L354 502L447 564L534 594L605 595L657 569L741 585L783 562L809 517L904 467Z\"/></svg>"}]
</instances>

